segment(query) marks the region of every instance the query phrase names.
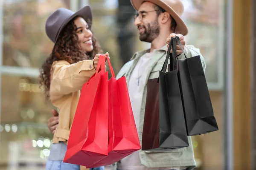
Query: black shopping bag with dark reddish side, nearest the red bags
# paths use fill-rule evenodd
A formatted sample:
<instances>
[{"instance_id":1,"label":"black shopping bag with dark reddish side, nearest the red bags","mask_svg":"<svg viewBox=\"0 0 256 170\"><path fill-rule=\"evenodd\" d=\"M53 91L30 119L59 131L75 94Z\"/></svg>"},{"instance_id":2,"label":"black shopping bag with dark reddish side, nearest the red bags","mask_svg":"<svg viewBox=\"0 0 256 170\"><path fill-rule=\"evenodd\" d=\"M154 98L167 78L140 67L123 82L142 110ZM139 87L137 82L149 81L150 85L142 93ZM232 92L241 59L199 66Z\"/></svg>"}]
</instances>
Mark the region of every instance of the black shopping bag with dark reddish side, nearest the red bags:
<instances>
[{"instance_id":1,"label":"black shopping bag with dark reddish side, nearest the red bags","mask_svg":"<svg viewBox=\"0 0 256 170\"><path fill-rule=\"evenodd\" d=\"M171 46L159 78L148 80L142 150L163 152L189 146L177 72L174 67L166 72Z\"/></svg>"}]
</instances>

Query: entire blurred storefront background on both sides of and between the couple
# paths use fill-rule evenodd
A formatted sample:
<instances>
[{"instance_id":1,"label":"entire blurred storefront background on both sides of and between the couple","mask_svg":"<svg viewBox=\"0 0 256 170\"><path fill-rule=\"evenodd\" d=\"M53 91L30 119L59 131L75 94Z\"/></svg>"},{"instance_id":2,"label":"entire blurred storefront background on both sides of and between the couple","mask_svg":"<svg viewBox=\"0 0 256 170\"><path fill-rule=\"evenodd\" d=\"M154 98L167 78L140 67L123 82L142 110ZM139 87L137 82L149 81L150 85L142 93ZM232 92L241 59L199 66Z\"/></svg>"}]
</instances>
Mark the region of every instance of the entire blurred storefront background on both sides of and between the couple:
<instances>
[{"instance_id":1,"label":"entire blurred storefront background on both sides of and between the couple","mask_svg":"<svg viewBox=\"0 0 256 170\"><path fill-rule=\"evenodd\" d=\"M38 84L38 68L53 46L44 30L49 14L89 4L93 33L111 55L117 73L129 55L149 45L139 41L135 11L121 1L0 1L0 170L44 170L49 155L52 134L47 119L52 105L45 102ZM216 132L192 137L198 170L250 169L251 0L243 2L183 0L183 19L189 28L186 44L200 48L205 57L219 126Z\"/></svg>"}]
</instances>

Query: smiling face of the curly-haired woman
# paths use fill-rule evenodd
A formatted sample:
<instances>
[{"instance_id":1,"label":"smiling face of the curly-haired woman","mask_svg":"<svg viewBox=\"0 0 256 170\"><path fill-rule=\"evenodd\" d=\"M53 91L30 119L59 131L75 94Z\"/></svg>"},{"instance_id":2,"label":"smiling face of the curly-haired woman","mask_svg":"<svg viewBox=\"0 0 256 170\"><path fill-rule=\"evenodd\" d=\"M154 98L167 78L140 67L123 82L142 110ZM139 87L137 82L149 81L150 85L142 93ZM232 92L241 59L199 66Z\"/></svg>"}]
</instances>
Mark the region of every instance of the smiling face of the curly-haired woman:
<instances>
[{"instance_id":1,"label":"smiling face of the curly-haired woman","mask_svg":"<svg viewBox=\"0 0 256 170\"><path fill-rule=\"evenodd\" d=\"M77 17L74 23L76 25L76 35L78 36L82 50L86 52L93 51L93 33L90 31L87 22L82 17Z\"/></svg>"}]
</instances>

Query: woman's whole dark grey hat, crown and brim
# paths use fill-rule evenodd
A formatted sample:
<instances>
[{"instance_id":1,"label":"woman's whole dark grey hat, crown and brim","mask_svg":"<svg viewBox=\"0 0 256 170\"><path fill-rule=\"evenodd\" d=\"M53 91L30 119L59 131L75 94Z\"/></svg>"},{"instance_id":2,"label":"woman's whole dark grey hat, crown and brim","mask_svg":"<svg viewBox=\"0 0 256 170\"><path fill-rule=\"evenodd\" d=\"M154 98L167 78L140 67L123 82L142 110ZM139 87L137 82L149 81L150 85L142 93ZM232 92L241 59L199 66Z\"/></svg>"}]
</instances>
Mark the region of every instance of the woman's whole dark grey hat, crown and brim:
<instances>
[{"instance_id":1,"label":"woman's whole dark grey hat, crown and brim","mask_svg":"<svg viewBox=\"0 0 256 170\"><path fill-rule=\"evenodd\" d=\"M56 42L63 28L75 17L82 17L84 20L92 22L92 12L90 6L84 6L77 12L67 8L59 8L47 19L45 24L46 34L52 42Z\"/></svg>"}]
</instances>

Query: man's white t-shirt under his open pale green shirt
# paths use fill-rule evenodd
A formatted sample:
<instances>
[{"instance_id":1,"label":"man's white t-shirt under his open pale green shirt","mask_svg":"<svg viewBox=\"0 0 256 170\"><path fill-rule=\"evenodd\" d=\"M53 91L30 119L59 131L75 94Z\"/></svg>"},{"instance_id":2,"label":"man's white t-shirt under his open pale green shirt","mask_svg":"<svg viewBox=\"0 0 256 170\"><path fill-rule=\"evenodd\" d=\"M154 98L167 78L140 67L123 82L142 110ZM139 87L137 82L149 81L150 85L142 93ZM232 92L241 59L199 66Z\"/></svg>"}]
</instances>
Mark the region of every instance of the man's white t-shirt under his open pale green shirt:
<instances>
[{"instance_id":1,"label":"man's white t-shirt under his open pale green shirt","mask_svg":"<svg viewBox=\"0 0 256 170\"><path fill-rule=\"evenodd\" d=\"M153 53L145 53L140 57L137 65L135 66L128 84L129 96L131 99L131 107L134 114L134 120L137 131L140 128L140 109L143 97L144 86L148 74L149 62ZM141 164L139 151L132 153L117 163L119 170L180 170L180 167L161 167L149 168Z\"/></svg>"}]
</instances>

